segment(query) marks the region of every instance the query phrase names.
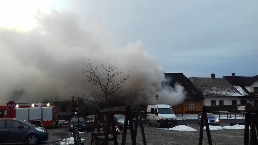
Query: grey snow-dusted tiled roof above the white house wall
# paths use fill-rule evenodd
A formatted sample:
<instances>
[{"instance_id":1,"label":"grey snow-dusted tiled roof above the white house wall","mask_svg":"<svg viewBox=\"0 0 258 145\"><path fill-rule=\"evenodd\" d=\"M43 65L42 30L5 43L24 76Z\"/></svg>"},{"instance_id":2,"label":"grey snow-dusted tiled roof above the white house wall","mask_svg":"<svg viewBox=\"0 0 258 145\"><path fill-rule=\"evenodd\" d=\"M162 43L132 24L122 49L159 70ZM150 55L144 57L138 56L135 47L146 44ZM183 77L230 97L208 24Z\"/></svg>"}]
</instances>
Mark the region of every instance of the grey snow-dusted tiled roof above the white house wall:
<instances>
[{"instance_id":1,"label":"grey snow-dusted tiled roof above the white house wall","mask_svg":"<svg viewBox=\"0 0 258 145\"><path fill-rule=\"evenodd\" d=\"M207 96L242 96L225 78L190 77L189 79Z\"/></svg>"}]
</instances>

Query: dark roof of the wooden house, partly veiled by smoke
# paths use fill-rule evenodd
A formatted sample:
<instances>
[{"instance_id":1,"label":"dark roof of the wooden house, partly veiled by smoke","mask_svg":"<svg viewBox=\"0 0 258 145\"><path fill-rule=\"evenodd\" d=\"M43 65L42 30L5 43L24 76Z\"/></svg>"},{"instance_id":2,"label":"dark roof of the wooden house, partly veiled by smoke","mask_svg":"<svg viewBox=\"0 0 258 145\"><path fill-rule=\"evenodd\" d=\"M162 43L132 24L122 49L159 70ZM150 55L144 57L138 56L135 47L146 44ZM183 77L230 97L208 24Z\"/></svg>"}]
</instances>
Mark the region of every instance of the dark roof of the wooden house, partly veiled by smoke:
<instances>
[{"instance_id":1,"label":"dark roof of the wooden house, partly veiled by smoke","mask_svg":"<svg viewBox=\"0 0 258 145\"><path fill-rule=\"evenodd\" d=\"M187 79L183 73L164 73L165 78L169 80L169 85L174 87L176 83L184 87L184 90L187 91L187 99L203 99L202 93L197 91L193 86L192 82Z\"/></svg>"}]
</instances>

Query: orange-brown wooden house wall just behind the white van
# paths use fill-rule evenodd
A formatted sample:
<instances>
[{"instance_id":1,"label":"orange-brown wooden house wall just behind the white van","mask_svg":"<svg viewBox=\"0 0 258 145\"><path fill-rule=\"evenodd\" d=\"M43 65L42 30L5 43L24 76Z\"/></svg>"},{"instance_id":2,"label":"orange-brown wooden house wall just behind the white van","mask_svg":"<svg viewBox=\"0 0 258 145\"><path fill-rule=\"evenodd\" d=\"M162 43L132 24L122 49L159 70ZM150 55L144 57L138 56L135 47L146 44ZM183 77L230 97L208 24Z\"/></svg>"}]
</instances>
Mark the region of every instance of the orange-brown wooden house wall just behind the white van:
<instances>
[{"instance_id":1,"label":"orange-brown wooden house wall just behind the white van","mask_svg":"<svg viewBox=\"0 0 258 145\"><path fill-rule=\"evenodd\" d=\"M194 103L194 109L189 109L189 102ZM201 111L203 106L202 100L185 100L182 104L172 106L176 114L185 114L187 111Z\"/></svg>"}]
</instances>

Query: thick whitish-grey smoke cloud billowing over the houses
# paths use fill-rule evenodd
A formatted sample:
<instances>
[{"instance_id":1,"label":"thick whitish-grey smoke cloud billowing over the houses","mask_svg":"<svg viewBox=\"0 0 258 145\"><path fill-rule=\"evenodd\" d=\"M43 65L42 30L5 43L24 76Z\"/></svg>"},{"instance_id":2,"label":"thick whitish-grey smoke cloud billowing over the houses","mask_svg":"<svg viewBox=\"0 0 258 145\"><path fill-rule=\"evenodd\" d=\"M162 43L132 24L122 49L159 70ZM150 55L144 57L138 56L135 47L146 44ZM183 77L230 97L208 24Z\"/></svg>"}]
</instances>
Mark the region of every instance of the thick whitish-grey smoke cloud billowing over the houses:
<instances>
[{"instance_id":1,"label":"thick whitish-grey smoke cloud billowing over the houses","mask_svg":"<svg viewBox=\"0 0 258 145\"><path fill-rule=\"evenodd\" d=\"M23 92L22 102L91 91L93 87L81 81L81 68L88 60L94 65L110 60L125 73L130 71L127 89L147 86L138 94L139 101L152 96L146 102L154 104L156 94L160 104L177 104L184 99L184 88L179 85L161 89L163 69L141 41L116 48L111 35L100 28L84 25L72 13L52 11L39 13L38 26L31 31L0 29L0 105L12 100L15 91Z\"/></svg>"}]
</instances>

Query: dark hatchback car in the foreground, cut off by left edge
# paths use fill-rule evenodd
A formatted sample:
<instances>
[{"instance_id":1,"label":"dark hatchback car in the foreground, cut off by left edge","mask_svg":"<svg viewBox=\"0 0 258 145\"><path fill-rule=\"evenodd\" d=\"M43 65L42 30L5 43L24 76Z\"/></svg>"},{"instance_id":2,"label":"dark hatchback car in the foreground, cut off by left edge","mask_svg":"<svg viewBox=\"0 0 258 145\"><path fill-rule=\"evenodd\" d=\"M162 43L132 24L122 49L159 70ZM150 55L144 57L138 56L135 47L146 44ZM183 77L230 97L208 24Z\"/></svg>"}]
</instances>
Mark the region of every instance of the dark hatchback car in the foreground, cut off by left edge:
<instances>
[{"instance_id":1,"label":"dark hatchback car in the foreground, cut off by left edge","mask_svg":"<svg viewBox=\"0 0 258 145\"><path fill-rule=\"evenodd\" d=\"M17 119L0 119L0 143L25 143L35 145L48 140L48 131Z\"/></svg>"}]
</instances>

